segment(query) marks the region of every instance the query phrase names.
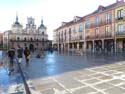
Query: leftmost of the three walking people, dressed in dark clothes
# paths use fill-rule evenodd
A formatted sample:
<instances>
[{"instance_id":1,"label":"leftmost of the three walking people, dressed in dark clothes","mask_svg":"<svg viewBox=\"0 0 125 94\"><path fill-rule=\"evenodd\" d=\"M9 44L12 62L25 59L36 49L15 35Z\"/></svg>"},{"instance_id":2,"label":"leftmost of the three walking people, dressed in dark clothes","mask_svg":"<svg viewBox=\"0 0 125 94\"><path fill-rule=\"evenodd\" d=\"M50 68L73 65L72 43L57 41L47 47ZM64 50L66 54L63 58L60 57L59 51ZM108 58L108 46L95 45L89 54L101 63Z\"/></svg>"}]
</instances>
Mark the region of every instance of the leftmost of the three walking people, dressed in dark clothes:
<instances>
[{"instance_id":1,"label":"leftmost of the three walking people, dressed in dark clothes","mask_svg":"<svg viewBox=\"0 0 125 94\"><path fill-rule=\"evenodd\" d=\"M9 57L9 75L11 75L11 72L14 71L14 57L15 57L15 49L12 47L8 51L8 57Z\"/></svg>"}]
</instances>

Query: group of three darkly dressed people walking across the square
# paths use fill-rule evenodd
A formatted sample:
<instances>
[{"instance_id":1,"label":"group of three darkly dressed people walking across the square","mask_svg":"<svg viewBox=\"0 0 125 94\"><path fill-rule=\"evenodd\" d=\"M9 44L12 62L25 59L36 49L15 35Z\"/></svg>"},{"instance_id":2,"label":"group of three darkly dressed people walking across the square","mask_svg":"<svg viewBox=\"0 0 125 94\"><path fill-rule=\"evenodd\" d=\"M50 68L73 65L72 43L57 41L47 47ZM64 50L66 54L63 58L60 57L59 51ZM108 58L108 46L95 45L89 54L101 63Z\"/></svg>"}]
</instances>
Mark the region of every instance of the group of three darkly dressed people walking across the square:
<instances>
[{"instance_id":1,"label":"group of three darkly dressed people walking across the square","mask_svg":"<svg viewBox=\"0 0 125 94\"><path fill-rule=\"evenodd\" d=\"M9 75L11 74L11 72L14 71L14 62L15 62L15 60L17 60L17 62L19 64L21 64L23 54L25 56L26 66L29 66L30 50L28 49L28 47L25 47L24 50L20 46L18 46L17 49L15 49L14 47L11 47L9 49L9 51L7 52L7 54L8 54L9 61L10 61L9 62Z\"/></svg>"}]
</instances>

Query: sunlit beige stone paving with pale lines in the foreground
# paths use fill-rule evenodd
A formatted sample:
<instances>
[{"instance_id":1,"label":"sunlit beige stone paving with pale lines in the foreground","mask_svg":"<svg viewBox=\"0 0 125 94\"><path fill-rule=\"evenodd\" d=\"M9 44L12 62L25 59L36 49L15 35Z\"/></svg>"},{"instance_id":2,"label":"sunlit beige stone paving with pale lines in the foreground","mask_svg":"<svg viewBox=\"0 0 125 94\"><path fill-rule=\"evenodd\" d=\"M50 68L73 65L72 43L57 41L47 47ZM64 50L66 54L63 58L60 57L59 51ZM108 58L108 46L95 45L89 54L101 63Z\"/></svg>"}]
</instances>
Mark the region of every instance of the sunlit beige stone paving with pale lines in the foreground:
<instances>
[{"instance_id":1,"label":"sunlit beige stone paving with pale lines in the foreground","mask_svg":"<svg viewBox=\"0 0 125 94\"><path fill-rule=\"evenodd\" d=\"M115 77L123 76L125 73L117 71L117 64L112 66L115 67L116 72L112 68L107 71L107 69L101 69L102 67L97 69L95 67L49 76L46 80L39 78L37 80L39 85L35 85L34 82L34 87L36 86L42 94L56 94L54 88L62 94L64 91L64 94L124 94L125 80L115 79ZM57 94L61 94L59 92Z\"/></svg>"}]
</instances>

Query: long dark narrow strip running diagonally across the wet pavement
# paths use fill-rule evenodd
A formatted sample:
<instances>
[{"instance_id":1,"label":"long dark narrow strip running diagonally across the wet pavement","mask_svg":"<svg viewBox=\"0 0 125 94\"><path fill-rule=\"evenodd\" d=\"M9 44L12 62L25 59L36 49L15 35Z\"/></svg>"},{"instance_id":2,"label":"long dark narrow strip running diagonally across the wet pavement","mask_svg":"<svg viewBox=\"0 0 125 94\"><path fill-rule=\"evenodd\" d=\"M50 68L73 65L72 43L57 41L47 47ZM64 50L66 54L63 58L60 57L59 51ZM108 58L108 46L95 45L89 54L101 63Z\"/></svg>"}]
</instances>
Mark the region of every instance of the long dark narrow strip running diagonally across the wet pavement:
<instances>
[{"instance_id":1,"label":"long dark narrow strip running diagonally across the wet pavement","mask_svg":"<svg viewBox=\"0 0 125 94\"><path fill-rule=\"evenodd\" d=\"M24 83L25 92L26 92L26 94L31 94L30 89L29 89L29 87L28 87L28 84L27 84L27 82L26 82L26 79L25 79L25 77L24 77L22 68L21 68L21 66L20 66L20 64L19 64L17 58L16 58L16 61L17 61L17 65L18 65L19 72L20 72L20 74L21 74L21 77L22 77L22 80L23 80L23 83Z\"/></svg>"}]
</instances>

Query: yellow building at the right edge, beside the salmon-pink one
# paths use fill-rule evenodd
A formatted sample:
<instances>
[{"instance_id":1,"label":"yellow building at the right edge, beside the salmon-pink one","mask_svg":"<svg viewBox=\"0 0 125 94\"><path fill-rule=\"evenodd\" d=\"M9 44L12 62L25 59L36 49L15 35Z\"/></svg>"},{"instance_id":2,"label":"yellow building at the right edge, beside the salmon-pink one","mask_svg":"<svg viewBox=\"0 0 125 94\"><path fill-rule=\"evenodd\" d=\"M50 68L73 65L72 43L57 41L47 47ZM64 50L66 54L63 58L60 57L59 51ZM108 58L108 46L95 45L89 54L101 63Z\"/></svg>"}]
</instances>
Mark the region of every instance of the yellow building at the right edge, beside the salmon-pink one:
<instances>
[{"instance_id":1,"label":"yellow building at the right edge, beside the salmon-pink one","mask_svg":"<svg viewBox=\"0 0 125 94\"><path fill-rule=\"evenodd\" d=\"M123 0L115 8L115 40L116 50L125 51L125 3Z\"/></svg>"}]
</instances>

